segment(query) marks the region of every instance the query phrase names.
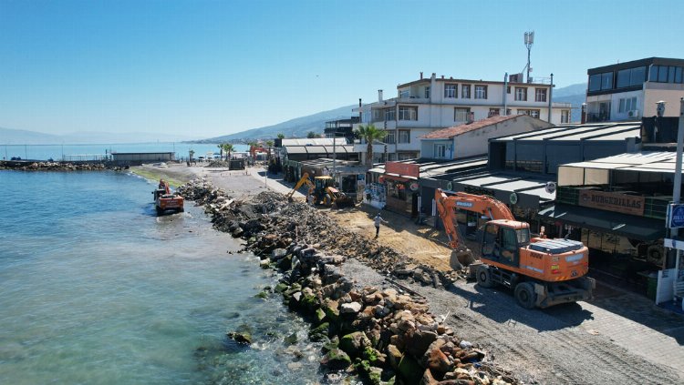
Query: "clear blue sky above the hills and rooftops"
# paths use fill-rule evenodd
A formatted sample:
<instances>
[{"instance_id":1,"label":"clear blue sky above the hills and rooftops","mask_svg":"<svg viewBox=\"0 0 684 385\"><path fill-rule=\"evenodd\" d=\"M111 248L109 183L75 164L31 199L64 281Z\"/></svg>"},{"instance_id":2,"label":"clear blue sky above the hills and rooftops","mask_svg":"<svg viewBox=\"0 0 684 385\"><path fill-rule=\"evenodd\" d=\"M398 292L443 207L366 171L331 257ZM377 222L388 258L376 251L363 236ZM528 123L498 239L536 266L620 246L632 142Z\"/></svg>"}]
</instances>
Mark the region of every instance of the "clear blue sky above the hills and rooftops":
<instances>
[{"instance_id":1,"label":"clear blue sky above the hills and rooftops","mask_svg":"<svg viewBox=\"0 0 684 385\"><path fill-rule=\"evenodd\" d=\"M214 137L426 76L684 57L680 1L0 0L0 127ZM351 111L350 111L351 113Z\"/></svg>"}]
</instances>

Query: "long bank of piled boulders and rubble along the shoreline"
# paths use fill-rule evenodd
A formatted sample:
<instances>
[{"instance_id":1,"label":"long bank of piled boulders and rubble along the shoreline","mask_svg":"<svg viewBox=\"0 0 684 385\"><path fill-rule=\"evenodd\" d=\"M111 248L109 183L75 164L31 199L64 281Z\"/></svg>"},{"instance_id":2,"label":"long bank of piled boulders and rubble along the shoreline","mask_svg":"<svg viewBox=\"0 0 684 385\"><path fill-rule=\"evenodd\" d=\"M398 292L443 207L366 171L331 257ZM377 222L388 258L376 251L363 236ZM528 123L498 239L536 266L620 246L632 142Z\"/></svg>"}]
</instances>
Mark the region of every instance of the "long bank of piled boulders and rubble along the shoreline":
<instances>
[{"instance_id":1,"label":"long bank of piled boulders and rubble along the shoreline","mask_svg":"<svg viewBox=\"0 0 684 385\"><path fill-rule=\"evenodd\" d=\"M406 256L337 228L316 208L287 203L280 194L238 202L197 180L179 191L203 204L216 228L244 238L262 267L283 273L274 290L311 321L309 338L323 342L320 364L327 380L346 373L374 384L516 383L431 314L425 299L358 287L343 272L347 258L391 272L412 263ZM427 268L416 269L431 278ZM435 279L442 278L426 278L430 284Z\"/></svg>"}]
</instances>

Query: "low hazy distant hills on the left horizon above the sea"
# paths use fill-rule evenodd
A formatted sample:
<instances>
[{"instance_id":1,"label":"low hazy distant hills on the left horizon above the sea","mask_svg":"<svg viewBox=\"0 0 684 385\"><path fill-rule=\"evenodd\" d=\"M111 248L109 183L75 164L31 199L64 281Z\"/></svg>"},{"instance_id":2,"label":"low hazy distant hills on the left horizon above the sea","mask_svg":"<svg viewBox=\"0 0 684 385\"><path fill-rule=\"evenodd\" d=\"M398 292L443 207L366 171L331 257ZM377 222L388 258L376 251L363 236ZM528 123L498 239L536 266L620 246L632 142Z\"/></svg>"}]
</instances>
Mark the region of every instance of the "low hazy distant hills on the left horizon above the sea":
<instances>
[{"instance_id":1,"label":"low hazy distant hills on the left horizon above the sea","mask_svg":"<svg viewBox=\"0 0 684 385\"><path fill-rule=\"evenodd\" d=\"M70 145L98 143L147 143L157 142L159 140L164 142L181 142L187 141L189 139L194 139L194 137L140 132L112 134L107 132L90 131L74 132L67 135L53 135L36 131L27 131L23 129L0 127L0 144L3 145L56 145L61 143Z\"/></svg>"}]
</instances>

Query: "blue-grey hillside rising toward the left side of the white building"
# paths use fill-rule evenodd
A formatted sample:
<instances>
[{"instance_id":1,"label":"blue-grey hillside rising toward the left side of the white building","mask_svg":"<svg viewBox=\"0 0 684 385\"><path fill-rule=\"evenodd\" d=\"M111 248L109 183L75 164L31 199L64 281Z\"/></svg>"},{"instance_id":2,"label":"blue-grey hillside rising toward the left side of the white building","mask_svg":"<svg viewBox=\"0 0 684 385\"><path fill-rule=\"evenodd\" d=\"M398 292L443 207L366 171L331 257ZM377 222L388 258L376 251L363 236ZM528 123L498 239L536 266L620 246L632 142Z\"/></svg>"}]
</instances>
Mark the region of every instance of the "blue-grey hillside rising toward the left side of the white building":
<instances>
[{"instance_id":1,"label":"blue-grey hillside rising toward the left side of the white building","mask_svg":"<svg viewBox=\"0 0 684 385\"><path fill-rule=\"evenodd\" d=\"M354 113L352 113L351 109L354 107L356 106L343 106L306 117L295 117L294 119L278 123L277 125L252 128L235 134L224 135L223 137L203 139L197 141L197 143L223 143L246 139L272 139L277 137L278 134L284 134L285 137L306 137L306 134L309 131L320 134L326 127L326 122L352 117Z\"/></svg>"}]
</instances>

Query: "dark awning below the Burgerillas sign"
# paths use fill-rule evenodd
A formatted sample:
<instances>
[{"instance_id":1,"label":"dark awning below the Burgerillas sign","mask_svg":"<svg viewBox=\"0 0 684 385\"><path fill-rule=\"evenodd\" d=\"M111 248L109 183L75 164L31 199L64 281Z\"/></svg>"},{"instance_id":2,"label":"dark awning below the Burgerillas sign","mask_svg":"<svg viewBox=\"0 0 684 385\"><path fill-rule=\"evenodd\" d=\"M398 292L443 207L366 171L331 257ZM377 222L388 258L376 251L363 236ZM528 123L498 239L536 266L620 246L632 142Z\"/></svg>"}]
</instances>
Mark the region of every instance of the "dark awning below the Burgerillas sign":
<instances>
[{"instance_id":1,"label":"dark awning below the Burgerillas sign","mask_svg":"<svg viewBox=\"0 0 684 385\"><path fill-rule=\"evenodd\" d=\"M581 228L608 232L619 236L655 240L665 237L665 220L635 217L596 208L558 205L539 211L541 217Z\"/></svg>"}]
</instances>

